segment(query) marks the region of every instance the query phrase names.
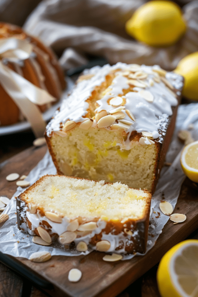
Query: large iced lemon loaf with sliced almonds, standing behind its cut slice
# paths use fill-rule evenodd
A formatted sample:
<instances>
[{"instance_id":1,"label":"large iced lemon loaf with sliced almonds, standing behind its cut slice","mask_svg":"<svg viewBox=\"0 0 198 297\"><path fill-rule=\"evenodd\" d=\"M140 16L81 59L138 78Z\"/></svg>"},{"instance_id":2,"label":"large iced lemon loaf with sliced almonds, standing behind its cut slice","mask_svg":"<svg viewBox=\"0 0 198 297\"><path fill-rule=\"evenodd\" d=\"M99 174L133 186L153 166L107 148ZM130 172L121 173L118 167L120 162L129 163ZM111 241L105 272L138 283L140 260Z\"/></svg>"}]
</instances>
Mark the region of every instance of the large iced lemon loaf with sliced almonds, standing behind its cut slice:
<instances>
[{"instance_id":1,"label":"large iced lemon loaf with sliced almonds, standing behind its cut slice","mask_svg":"<svg viewBox=\"0 0 198 297\"><path fill-rule=\"evenodd\" d=\"M157 65L86 70L46 127L57 173L153 193L182 87L180 75Z\"/></svg>"}]
</instances>

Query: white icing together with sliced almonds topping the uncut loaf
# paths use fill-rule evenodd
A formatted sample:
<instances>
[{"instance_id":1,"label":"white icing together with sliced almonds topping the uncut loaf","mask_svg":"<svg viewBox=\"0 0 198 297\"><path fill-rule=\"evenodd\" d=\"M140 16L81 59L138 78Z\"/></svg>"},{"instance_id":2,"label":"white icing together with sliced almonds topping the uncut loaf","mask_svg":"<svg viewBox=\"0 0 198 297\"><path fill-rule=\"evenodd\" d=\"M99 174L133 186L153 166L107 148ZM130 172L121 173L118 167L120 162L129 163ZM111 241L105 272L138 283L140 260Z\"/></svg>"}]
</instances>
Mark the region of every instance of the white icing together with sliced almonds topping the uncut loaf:
<instances>
[{"instance_id":1,"label":"white icing together with sliced almonds topping the uncut loaf","mask_svg":"<svg viewBox=\"0 0 198 297\"><path fill-rule=\"evenodd\" d=\"M110 74L114 78L110 86L99 94L94 116L89 117L88 100L94 89L101 86ZM182 86L183 78L180 75L166 72L158 65L140 66L119 62L113 66L93 67L84 71L84 80L79 81L63 101L60 110L47 125L46 134L50 137L53 131L60 130L64 136L65 132L80 122L83 123L82 129L123 128L129 132L126 146L132 131L143 132L142 141L146 141L146 144L151 144L152 139L161 142L160 133L165 131L172 107L178 105L177 95L180 95ZM144 132L148 132L147 136Z\"/></svg>"}]
</instances>

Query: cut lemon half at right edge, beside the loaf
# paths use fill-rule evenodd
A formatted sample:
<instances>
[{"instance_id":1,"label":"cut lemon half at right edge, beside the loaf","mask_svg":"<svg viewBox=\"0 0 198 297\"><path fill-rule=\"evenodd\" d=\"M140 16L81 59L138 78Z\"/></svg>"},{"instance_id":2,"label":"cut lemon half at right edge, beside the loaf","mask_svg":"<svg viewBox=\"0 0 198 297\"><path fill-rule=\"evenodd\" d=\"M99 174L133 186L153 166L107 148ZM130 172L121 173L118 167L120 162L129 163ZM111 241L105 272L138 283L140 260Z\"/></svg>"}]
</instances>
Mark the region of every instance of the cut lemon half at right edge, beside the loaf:
<instances>
[{"instance_id":1,"label":"cut lemon half at right edge, beside the loaf","mask_svg":"<svg viewBox=\"0 0 198 297\"><path fill-rule=\"evenodd\" d=\"M180 162L186 176L191 181L198 183L198 140L185 146L181 153Z\"/></svg>"}]
</instances>

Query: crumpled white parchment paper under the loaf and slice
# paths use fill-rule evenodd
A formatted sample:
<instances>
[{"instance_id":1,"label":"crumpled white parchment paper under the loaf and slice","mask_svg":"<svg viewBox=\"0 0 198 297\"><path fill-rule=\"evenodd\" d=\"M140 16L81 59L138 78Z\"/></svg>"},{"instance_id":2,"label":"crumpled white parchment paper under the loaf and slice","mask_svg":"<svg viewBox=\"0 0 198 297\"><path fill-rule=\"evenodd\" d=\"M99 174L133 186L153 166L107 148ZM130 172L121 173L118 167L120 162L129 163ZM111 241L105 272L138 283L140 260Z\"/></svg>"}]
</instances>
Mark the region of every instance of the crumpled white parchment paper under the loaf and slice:
<instances>
[{"instance_id":1,"label":"crumpled white parchment paper under the loaf and slice","mask_svg":"<svg viewBox=\"0 0 198 297\"><path fill-rule=\"evenodd\" d=\"M166 156L166 161L171 162L172 165L164 166L162 168L156 191L152 197L150 213L151 225L149 226L148 231L148 234L150 235L148 235L146 252L148 252L148 250L154 246L159 234L162 232L164 225L169 219L169 216L161 213L159 209L160 200L164 198L166 201L169 201L174 209L178 195L180 193L180 187L185 179L185 175L180 166L180 152L184 145L178 140L177 134L181 129L189 129L189 124L194 124L194 128L190 131L194 140L198 140L198 103L180 105L178 108L175 131ZM31 170L26 179L30 181L30 184L33 184L45 174L56 174L56 168L52 162L49 152L47 152L44 158L37 164L37 166ZM42 250L49 251L51 255L66 256L80 254L86 255L92 251L91 249L81 253L75 250L68 251L57 242L47 247L32 243L32 236L28 233L19 231L16 224L17 217L15 197L23 191L24 189L18 187L17 192L4 210L4 213L9 214L9 219L4 223L0 223L1 252L15 257L29 258L33 252ZM160 213L159 217L158 212ZM141 254L137 253L136 255ZM132 257L134 257L134 255L125 255L123 260L131 259Z\"/></svg>"}]
</instances>

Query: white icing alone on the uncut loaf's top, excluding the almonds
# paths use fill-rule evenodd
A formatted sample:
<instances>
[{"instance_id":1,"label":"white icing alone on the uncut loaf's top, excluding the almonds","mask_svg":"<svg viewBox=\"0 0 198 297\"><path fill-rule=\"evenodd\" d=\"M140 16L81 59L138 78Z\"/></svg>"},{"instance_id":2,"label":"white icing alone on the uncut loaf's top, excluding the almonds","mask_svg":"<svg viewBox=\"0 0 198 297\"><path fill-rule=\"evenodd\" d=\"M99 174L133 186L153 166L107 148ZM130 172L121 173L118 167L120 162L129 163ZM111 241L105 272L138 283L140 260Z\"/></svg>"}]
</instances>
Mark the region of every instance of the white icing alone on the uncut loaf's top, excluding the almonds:
<instances>
[{"instance_id":1,"label":"white icing alone on the uncut loaf's top, excluding the almonds","mask_svg":"<svg viewBox=\"0 0 198 297\"><path fill-rule=\"evenodd\" d=\"M123 89L129 88L129 80L123 76L122 71L125 73L129 72L130 68L137 68L137 71L143 71L147 78L137 80L141 84L145 85L145 88L134 87L133 92L129 92L126 96L123 96ZM96 86L100 86L102 82L105 81L105 76L112 70L122 69L121 71L116 72L116 77L113 79L111 86L109 86L109 92L104 95L104 97L97 101L99 107L96 108L95 112L100 110L106 110L110 114L110 110L116 108L117 106L112 106L108 104L107 100L121 96L126 100L126 104L123 104L125 109L122 110L125 113L124 120L132 123L130 126L126 126L125 130L127 132L137 131L138 133L142 131L153 133L153 138L156 139L159 137L158 141L162 141L161 136L159 135L159 130L165 131L168 123L169 116L172 115L172 106L178 104L178 100L175 98L173 91L165 86L164 82L160 81L157 83L154 81L156 77L159 78L159 75L156 72L153 72L153 69L161 69L158 65L152 66L134 66L134 64L125 64L118 62L117 64L110 66L109 64L104 65L103 67L93 67L92 69L86 69L84 74L94 74L89 80L83 80L77 84L73 89L72 93L63 100L60 107L60 111L56 111L53 119L46 127L47 136L50 137L53 131L60 130L60 123L64 124L68 119L77 122L82 122L85 119L83 116L86 116L88 103L85 102L91 96L91 92ZM125 74L126 75L126 74ZM145 75L145 76L146 76ZM153 83L151 84L151 80ZM179 92L183 86L183 78L180 75L177 75L173 72L167 72L166 80ZM142 90L149 91L153 96L153 102L148 102L140 92ZM130 110L134 115L136 121L133 121L128 114L126 109ZM163 119L163 121L162 121ZM96 121L93 121L92 127L96 126ZM105 129L110 129L105 127ZM126 148L129 147L129 136L125 142Z\"/></svg>"}]
</instances>

